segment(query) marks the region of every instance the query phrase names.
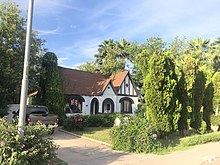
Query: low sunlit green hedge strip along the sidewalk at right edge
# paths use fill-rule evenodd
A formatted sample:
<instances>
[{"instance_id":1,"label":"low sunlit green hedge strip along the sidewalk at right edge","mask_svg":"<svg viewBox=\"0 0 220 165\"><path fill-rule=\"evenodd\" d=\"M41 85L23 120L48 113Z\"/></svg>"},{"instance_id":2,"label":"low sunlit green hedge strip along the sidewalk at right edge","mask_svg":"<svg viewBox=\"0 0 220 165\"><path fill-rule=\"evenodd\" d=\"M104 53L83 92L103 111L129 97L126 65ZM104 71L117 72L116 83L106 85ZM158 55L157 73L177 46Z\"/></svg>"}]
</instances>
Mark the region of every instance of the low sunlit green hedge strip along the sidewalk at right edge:
<instances>
[{"instance_id":1,"label":"low sunlit green hedge strip along the sidewalk at right edge","mask_svg":"<svg viewBox=\"0 0 220 165\"><path fill-rule=\"evenodd\" d=\"M216 142L220 140L220 132L208 133L204 135L194 135L181 139L180 145L183 147L204 144L207 142Z\"/></svg>"}]
</instances>

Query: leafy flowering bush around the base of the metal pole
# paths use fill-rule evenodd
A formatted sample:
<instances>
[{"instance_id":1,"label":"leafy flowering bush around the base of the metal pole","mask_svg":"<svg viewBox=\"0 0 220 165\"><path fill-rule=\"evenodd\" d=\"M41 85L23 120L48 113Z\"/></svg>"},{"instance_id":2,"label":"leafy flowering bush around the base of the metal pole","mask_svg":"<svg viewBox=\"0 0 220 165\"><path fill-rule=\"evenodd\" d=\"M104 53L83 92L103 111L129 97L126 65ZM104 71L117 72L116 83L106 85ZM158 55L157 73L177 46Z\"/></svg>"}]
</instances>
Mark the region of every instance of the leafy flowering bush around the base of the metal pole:
<instances>
[{"instance_id":1,"label":"leafy flowering bush around the base of the metal pole","mask_svg":"<svg viewBox=\"0 0 220 165\"><path fill-rule=\"evenodd\" d=\"M42 125L25 126L24 137L17 135L17 125L0 119L0 164L48 164L57 147L47 137L49 129Z\"/></svg>"}]
</instances>

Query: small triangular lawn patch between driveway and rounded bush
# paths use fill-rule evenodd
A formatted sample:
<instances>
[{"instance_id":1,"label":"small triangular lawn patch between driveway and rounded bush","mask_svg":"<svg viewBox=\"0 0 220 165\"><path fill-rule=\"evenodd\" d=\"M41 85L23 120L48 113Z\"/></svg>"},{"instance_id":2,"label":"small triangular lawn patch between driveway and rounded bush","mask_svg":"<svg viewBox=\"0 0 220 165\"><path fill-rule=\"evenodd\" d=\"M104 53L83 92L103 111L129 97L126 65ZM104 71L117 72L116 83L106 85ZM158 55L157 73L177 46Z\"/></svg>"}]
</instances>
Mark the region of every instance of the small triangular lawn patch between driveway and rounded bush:
<instances>
[{"instance_id":1,"label":"small triangular lawn patch between driveway and rounded bush","mask_svg":"<svg viewBox=\"0 0 220 165\"><path fill-rule=\"evenodd\" d=\"M111 144L110 138L111 127L87 127L84 131L72 131L77 135L88 137Z\"/></svg>"}]
</instances>

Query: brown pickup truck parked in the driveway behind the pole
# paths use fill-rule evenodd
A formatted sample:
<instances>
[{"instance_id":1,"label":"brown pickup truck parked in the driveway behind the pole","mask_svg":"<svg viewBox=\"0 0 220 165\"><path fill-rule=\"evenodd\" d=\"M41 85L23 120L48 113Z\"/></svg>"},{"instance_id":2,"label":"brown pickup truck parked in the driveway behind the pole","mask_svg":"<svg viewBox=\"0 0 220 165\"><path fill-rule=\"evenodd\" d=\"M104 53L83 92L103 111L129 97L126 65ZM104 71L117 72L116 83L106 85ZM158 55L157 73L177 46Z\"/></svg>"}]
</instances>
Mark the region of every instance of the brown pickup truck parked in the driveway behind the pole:
<instances>
[{"instance_id":1,"label":"brown pickup truck parked in the driveway behind the pole","mask_svg":"<svg viewBox=\"0 0 220 165\"><path fill-rule=\"evenodd\" d=\"M19 110L13 111L13 118L19 116ZM49 128L51 128L51 133L54 132L54 128L58 126L58 115L49 114L48 108L46 106L39 105L27 105L26 109L26 124L36 124L40 122Z\"/></svg>"}]
</instances>

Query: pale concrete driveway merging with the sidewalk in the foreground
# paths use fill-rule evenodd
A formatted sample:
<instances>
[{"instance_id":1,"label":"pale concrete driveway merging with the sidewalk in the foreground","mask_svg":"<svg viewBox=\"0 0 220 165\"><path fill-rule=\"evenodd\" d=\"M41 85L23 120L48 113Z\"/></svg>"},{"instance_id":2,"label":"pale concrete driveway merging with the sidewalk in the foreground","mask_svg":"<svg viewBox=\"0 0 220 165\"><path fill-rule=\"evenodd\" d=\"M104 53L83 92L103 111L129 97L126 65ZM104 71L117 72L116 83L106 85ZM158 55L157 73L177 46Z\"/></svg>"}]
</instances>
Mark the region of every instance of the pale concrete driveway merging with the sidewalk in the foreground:
<instances>
[{"instance_id":1,"label":"pale concrete driveway merging with the sidewalk in the foreground","mask_svg":"<svg viewBox=\"0 0 220 165\"><path fill-rule=\"evenodd\" d=\"M88 139L55 130L58 157L69 165L219 165L220 142L196 146L167 155L135 154L113 151ZM208 161L210 163L208 163Z\"/></svg>"}]
</instances>

